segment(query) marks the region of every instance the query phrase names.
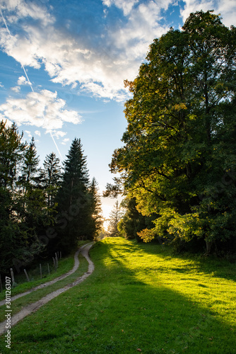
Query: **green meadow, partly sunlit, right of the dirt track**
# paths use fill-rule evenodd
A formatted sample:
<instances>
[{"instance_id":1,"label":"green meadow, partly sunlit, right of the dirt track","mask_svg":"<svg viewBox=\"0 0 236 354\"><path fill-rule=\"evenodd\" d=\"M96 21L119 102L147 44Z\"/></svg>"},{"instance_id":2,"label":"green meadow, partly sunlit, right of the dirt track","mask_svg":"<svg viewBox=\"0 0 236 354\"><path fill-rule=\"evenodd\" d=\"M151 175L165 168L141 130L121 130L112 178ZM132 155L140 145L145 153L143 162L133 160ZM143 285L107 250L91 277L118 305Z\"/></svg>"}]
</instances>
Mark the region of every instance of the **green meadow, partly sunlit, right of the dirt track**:
<instances>
[{"instance_id":1,"label":"green meadow, partly sunlit, right of the dirt track","mask_svg":"<svg viewBox=\"0 0 236 354\"><path fill-rule=\"evenodd\" d=\"M235 264L124 239L90 256L87 280L11 329L11 353L236 353Z\"/></svg>"}]
</instances>

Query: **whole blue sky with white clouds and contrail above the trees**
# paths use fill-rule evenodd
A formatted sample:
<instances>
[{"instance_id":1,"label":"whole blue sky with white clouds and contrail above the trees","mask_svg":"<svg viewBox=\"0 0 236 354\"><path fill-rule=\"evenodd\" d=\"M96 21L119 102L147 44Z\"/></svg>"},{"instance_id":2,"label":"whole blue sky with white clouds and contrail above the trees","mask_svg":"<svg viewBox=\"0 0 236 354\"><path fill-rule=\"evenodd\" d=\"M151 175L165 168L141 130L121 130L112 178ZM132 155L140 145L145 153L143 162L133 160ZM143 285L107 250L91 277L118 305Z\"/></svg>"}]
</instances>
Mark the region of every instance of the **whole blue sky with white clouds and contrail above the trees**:
<instances>
[{"instance_id":1,"label":"whole blue sky with white clouds and contrail above the trees","mask_svg":"<svg viewBox=\"0 0 236 354\"><path fill-rule=\"evenodd\" d=\"M122 147L124 103L148 47L189 13L214 10L236 25L236 0L0 0L0 119L16 122L41 164L63 161L81 138L100 193ZM109 216L115 200L102 198Z\"/></svg>"}]
</instances>

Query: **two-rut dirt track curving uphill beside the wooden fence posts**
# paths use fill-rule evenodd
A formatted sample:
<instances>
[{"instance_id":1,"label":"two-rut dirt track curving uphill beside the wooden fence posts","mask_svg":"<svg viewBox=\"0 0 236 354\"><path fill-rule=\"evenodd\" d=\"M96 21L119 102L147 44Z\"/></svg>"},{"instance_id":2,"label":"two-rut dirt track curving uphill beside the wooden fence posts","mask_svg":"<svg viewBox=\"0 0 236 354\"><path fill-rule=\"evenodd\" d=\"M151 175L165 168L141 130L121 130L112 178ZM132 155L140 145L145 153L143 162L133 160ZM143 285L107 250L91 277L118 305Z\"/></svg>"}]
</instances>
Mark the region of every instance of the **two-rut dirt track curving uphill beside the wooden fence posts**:
<instances>
[{"instance_id":1,"label":"two-rut dirt track curving uphill beside the wooden fence posts","mask_svg":"<svg viewBox=\"0 0 236 354\"><path fill-rule=\"evenodd\" d=\"M90 250L90 248L93 246L92 244L87 244L85 246L83 246L83 248L81 247L81 249L79 250L81 252L81 254L86 258L86 260L88 261L88 272L84 273L81 277L79 277L78 279L76 279L75 282L72 282L69 285L66 285L65 287L61 287L61 289L55 290L54 292L51 292L50 294L46 295L45 297L42 297L42 299L38 300L37 302L35 302L34 304L30 304L27 307L25 307L24 309L22 309L20 312L18 312L18 314L15 314L11 317L11 327L14 326L15 324L18 323L18 321L20 321L21 319L24 319L26 316L28 316L28 314L31 314L32 312L37 311L37 309L39 309L41 306L43 306L44 304L47 304L47 302L49 302L50 300L54 299L54 297L57 297L58 295L60 295L62 292L65 292L66 290L71 289L71 287L74 287L76 285L78 285L80 282L83 282L83 280L85 280L86 278L88 278L88 276L93 273L94 270L94 264L93 262L90 260L90 257L88 256L88 251ZM77 252L76 252L77 253ZM76 255L75 255L76 256ZM77 260L78 260L78 254L77 254ZM74 267L75 268L75 265ZM78 266L77 266L78 268ZM76 269L77 269L76 268ZM76 269L74 271L76 271ZM71 273L72 270L71 270ZM70 273L70 274L71 274ZM69 273L66 273L66 276L68 276ZM64 276L64 275L61 275ZM66 278L66 276L64 276L64 278ZM59 279L60 278L60 279ZM59 277L57 278L57 280L61 280L64 278ZM55 280L55 279L54 279ZM55 281L54 281L55 282ZM52 282L48 282L45 283L47 285L52 284ZM41 286L41 285L40 285ZM37 287L39 289L41 289L41 287ZM33 291L37 290L36 288L34 288ZM29 290L30 292L30 290ZM24 295L29 292L25 292ZM18 296L18 295L16 295ZM5 303L5 302L4 302ZM6 321L1 322L0 323L0 336L1 334L3 334L4 332L6 332Z\"/></svg>"}]
</instances>

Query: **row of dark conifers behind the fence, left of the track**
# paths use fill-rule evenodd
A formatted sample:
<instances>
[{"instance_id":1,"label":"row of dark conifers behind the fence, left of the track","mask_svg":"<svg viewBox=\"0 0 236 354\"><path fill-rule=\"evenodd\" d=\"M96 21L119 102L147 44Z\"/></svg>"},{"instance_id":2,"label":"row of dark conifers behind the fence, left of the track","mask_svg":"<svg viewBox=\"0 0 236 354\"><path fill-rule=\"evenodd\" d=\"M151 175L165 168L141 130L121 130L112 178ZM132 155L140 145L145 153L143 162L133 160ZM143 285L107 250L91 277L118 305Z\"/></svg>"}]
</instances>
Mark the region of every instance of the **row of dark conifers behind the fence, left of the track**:
<instances>
[{"instance_id":1,"label":"row of dark conifers behind the fence, left of the track","mask_svg":"<svg viewBox=\"0 0 236 354\"><path fill-rule=\"evenodd\" d=\"M81 139L62 166L54 152L40 167L34 139L23 142L15 124L0 122L0 271L35 256L69 253L102 227L98 185L90 181Z\"/></svg>"}]
</instances>

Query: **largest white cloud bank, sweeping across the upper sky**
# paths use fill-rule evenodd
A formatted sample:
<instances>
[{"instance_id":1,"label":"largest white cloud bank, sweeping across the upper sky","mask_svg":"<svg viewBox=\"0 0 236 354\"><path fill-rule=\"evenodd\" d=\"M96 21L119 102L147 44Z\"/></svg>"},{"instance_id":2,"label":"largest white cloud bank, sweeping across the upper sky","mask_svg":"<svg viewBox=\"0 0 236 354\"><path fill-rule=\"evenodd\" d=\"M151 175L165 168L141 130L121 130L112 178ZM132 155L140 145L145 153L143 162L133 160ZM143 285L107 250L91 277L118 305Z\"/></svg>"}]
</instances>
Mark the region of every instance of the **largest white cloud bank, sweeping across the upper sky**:
<instances>
[{"instance_id":1,"label":"largest white cloud bank, sweeping across the upper sky","mask_svg":"<svg viewBox=\"0 0 236 354\"><path fill-rule=\"evenodd\" d=\"M8 11L12 12L11 16L15 13L17 18L24 18L24 25L18 22L20 31L11 37L5 28L0 28L0 45L24 66L39 69L44 65L54 83L73 88L81 84L83 90L95 96L122 101L128 92L124 89L124 79L135 78L148 45L167 30L157 21L161 9L172 1L148 0L139 4L139 0L104 0L107 11L113 4L122 9L127 21L118 19L117 23L104 25L100 33L91 35L90 28L78 33L58 26L43 6L45 21L42 14L37 15L38 5L35 7L32 3L30 8L25 8L23 0L11 0ZM6 1L4 4L6 6ZM29 16L39 19L41 25L38 21L29 21ZM73 21L70 25L77 25L78 19ZM21 77L23 84L26 80Z\"/></svg>"}]
</instances>

